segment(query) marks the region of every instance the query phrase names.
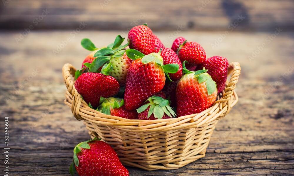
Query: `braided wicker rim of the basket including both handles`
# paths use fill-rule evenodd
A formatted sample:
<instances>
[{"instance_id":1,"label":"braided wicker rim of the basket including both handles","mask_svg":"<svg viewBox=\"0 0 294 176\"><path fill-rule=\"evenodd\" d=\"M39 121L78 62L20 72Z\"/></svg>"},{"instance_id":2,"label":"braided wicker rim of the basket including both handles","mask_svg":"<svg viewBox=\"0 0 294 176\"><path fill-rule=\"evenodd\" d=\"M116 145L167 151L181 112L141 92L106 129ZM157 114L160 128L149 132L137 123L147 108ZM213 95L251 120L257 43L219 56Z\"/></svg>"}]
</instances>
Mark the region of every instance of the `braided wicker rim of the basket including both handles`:
<instances>
[{"instance_id":1,"label":"braided wicker rim of the basket including both handles","mask_svg":"<svg viewBox=\"0 0 294 176\"><path fill-rule=\"evenodd\" d=\"M198 114L190 114L171 119L131 120L118 116L106 115L91 109L88 104L81 99L81 95L74 87L74 81L71 77L74 77L76 68L71 64L65 64L62 68L64 82L67 87L64 103L71 107L72 113L78 120L90 121L97 125L116 126L116 128L126 131L152 132L195 128L204 123L222 119L237 103L238 96L234 89L238 82L240 71L241 67L238 62L232 62L229 65L228 80L225 90L218 95L218 99L213 106Z\"/></svg>"}]
</instances>

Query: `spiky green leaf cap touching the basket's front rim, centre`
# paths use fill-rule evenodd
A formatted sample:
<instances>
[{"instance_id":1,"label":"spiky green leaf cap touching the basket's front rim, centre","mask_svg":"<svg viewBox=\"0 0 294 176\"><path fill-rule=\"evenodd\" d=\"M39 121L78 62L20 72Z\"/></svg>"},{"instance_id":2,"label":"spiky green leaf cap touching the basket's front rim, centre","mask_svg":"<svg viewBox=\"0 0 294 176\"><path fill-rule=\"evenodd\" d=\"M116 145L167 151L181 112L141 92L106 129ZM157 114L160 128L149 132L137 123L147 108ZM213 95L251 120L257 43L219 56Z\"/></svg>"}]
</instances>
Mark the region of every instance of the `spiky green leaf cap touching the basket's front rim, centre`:
<instances>
[{"instance_id":1,"label":"spiky green leaf cap touching the basket's front rim, centre","mask_svg":"<svg viewBox=\"0 0 294 176\"><path fill-rule=\"evenodd\" d=\"M168 115L171 118L176 116L176 113L173 111L172 107L169 106L170 102L167 99L153 95L152 97L149 97L146 102L148 101L149 103L144 104L137 109L138 113L145 111L150 106L147 116L148 118L152 114L157 119L162 119L164 114Z\"/></svg>"}]
</instances>

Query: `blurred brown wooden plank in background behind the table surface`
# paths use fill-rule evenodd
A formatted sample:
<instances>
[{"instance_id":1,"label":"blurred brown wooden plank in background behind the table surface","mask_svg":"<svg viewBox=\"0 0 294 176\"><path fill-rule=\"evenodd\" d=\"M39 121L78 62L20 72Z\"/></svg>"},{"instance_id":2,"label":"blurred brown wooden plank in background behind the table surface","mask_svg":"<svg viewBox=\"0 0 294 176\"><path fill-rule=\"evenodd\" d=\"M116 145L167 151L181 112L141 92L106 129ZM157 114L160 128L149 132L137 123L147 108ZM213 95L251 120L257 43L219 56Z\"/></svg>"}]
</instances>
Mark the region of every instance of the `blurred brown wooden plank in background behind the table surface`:
<instances>
[{"instance_id":1,"label":"blurred brown wooden plank in background behind the table surface","mask_svg":"<svg viewBox=\"0 0 294 176\"><path fill-rule=\"evenodd\" d=\"M294 29L293 0L2 0L0 8L5 29L75 29L81 22L94 30L144 22L153 30Z\"/></svg>"}]
</instances>

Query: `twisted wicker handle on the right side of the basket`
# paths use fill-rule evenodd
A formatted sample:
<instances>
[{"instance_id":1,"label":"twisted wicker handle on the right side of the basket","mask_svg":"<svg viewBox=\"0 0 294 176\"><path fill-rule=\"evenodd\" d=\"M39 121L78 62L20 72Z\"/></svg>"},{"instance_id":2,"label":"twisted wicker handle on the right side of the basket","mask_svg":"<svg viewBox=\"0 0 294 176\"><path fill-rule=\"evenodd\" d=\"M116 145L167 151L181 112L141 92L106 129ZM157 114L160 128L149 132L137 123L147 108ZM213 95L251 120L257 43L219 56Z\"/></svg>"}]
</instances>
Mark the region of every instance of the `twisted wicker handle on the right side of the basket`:
<instances>
[{"instance_id":1,"label":"twisted wicker handle on the right side of the basket","mask_svg":"<svg viewBox=\"0 0 294 176\"><path fill-rule=\"evenodd\" d=\"M220 106L219 106L220 111L225 107L225 105L228 105L228 110L225 112L225 114L218 117L218 119L223 118L231 110L232 103L230 102L230 99L234 93L234 89L236 87L236 83L238 82L240 73L241 73L241 67L240 67L239 62L232 62L228 67L228 76L231 75L231 78L225 87L225 92L223 93L223 97L222 97L222 99L219 99L214 102L214 104L220 103Z\"/></svg>"}]
</instances>

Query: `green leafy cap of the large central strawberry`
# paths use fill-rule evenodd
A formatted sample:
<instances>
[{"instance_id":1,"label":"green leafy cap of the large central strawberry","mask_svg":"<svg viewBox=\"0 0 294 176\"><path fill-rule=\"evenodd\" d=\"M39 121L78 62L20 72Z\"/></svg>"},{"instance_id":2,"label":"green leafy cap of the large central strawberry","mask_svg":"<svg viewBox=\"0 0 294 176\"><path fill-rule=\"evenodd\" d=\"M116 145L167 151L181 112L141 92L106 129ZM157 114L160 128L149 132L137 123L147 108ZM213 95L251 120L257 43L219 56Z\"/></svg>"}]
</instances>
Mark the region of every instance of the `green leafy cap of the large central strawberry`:
<instances>
[{"instance_id":1,"label":"green leafy cap of the large central strawberry","mask_svg":"<svg viewBox=\"0 0 294 176\"><path fill-rule=\"evenodd\" d=\"M135 49L127 49L126 50L126 55L128 56L128 58L130 58L132 60L141 59L143 64L147 64L149 62L155 61L155 63L157 65L161 66L166 77L168 77L168 79L171 82L173 82L171 80L171 78L169 77L168 73L178 72L180 66L178 64L163 65L163 58L161 57L160 53L161 53L161 50L158 53L150 53L148 55L144 55L143 53L141 53L140 51L135 50Z\"/></svg>"}]
</instances>

